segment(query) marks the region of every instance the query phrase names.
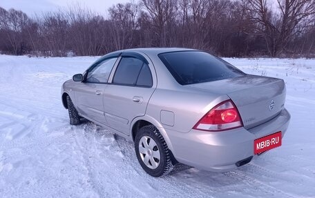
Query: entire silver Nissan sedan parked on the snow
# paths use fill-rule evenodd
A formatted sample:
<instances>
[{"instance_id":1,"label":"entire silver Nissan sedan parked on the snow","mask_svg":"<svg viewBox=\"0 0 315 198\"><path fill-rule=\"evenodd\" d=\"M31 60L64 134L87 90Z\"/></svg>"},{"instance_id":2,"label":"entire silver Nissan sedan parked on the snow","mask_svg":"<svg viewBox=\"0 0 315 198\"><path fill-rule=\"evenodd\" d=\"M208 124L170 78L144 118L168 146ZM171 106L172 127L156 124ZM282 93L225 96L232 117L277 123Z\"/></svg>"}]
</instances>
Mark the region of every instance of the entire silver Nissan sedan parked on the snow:
<instances>
[{"instance_id":1,"label":"entire silver Nissan sedan parked on the snow","mask_svg":"<svg viewBox=\"0 0 315 198\"><path fill-rule=\"evenodd\" d=\"M82 117L134 142L153 177L180 162L229 171L281 145L289 125L282 79L247 75L207 52L111 52L61 90L70 124Z\"/></svg>"}]
</instances>

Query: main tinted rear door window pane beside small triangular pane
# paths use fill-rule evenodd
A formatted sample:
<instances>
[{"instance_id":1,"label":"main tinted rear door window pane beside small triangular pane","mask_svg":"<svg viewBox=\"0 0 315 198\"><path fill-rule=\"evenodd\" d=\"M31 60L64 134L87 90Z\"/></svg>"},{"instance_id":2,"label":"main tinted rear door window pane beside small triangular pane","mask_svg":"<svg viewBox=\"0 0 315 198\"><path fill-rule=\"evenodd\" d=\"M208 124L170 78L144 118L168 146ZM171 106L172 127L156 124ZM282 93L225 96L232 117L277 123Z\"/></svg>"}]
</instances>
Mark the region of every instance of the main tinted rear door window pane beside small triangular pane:
<instances>
[{"instance_id":1,"label":"main tinted rear door window pane beside small triangular pane","mask_svg":"<svg viewBox=\"0 0 315 198\"><path fill-rule=\"evenodd\" d=\"M115 72L113 83L135 86L144 62L134 57L122 57Z\"/></svg>"}]
</instances>

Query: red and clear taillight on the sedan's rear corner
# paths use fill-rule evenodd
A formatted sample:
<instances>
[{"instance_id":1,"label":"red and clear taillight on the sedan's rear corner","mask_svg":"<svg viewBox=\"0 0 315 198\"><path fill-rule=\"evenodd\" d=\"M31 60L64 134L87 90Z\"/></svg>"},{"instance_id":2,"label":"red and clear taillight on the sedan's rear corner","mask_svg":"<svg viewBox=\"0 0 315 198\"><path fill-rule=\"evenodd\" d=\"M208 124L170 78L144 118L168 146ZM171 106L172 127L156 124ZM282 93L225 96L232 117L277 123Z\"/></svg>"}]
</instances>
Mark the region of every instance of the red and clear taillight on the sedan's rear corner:
<instances>
[{"instance_id":1,"label":"red and clear taillight on the sedan's rear corner","mask_svg":"<svg viewBox=\"0 0 315 198\"><path fill-rule=\"evenodd\" d=\"M242 119L240 119L238 109L229 99L213 107L195 124L193 129L220 131L239 128L241 126Z\"/></svg>"}]
</instances>

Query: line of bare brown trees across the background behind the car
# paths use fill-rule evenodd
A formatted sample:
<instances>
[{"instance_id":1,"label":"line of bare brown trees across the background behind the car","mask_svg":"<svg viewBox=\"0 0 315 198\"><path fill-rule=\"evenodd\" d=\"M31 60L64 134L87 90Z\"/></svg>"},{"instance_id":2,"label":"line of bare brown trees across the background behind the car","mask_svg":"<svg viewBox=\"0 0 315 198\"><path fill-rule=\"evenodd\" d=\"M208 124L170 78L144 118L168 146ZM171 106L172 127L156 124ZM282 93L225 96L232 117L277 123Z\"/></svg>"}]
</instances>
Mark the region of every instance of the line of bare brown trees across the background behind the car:
<instances>
[{"instance_id":1,"label":"line of bare brown trees across the background behind the car","mask_svg":"<svg viewBox=\"0 0 315 198\"><path fill-rule=\"evenodd\" d=\"M314 0L141 0L108 16L70 6L28 17L0 7L0 52L104 55L184 47L223 57L315 57Z\"/></svg>"}]
</instances>

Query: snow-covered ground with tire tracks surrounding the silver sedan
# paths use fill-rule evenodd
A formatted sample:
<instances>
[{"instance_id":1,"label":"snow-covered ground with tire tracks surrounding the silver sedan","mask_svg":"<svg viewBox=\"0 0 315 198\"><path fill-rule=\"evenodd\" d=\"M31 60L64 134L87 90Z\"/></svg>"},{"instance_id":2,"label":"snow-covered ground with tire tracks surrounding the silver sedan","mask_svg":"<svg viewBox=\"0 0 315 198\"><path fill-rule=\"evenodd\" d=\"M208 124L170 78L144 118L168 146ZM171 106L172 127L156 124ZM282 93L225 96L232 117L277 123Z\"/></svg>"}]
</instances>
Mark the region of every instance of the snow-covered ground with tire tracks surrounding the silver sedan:
<instances>
[{"instance_id":1,"label":"snow-covered ground with tire tracks surrounding the silver sedan","mask_svg":"<svg viewBox=\"0 0 315 198\"><path fill-rule=\"evenodd\" d=\"M315 197L314 59L226 59L285 79L283 146L232 172L162 178L146 175L133 143L90 122L69 125L61 84L95 59L0 55L0 197Z\"/></svg>"}]
</instances>

